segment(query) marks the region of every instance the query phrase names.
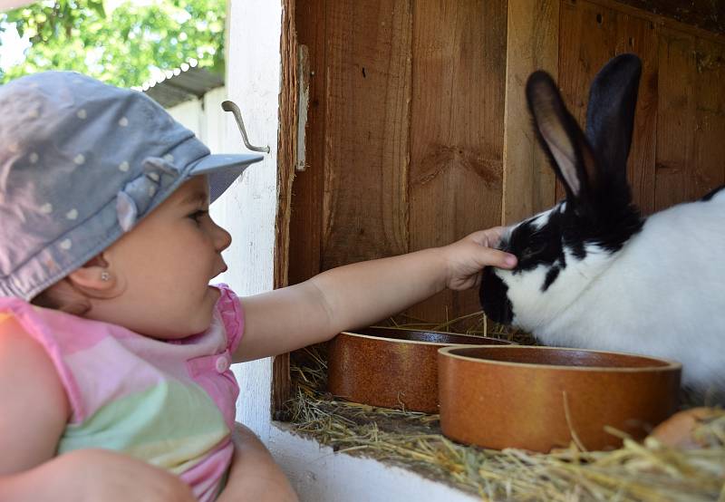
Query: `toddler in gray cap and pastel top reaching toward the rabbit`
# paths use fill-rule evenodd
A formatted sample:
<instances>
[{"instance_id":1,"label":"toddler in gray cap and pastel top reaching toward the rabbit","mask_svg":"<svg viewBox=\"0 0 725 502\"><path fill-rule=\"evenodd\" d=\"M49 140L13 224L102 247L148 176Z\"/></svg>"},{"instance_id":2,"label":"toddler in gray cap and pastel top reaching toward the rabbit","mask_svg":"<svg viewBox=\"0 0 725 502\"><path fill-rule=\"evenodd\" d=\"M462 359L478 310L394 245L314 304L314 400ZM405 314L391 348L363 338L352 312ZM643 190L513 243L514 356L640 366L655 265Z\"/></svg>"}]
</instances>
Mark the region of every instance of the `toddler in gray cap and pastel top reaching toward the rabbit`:
<instances>
[{"instance_id":1,"label":"toddler in gray cap and pastel top reaching toward the rabbit","mask_svg":"<svg viewBox=\"0 0 725 502\"><path fill-rule=\"evenodd\" d=\"M229 370L478 285L499 228L239 299L208 204L261 157L210 155L140 92L0 87L0 499L295 500L235 424ZM237 440L235 441L235 438Z\"/></svg>"}]
</instances>

